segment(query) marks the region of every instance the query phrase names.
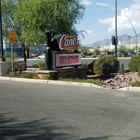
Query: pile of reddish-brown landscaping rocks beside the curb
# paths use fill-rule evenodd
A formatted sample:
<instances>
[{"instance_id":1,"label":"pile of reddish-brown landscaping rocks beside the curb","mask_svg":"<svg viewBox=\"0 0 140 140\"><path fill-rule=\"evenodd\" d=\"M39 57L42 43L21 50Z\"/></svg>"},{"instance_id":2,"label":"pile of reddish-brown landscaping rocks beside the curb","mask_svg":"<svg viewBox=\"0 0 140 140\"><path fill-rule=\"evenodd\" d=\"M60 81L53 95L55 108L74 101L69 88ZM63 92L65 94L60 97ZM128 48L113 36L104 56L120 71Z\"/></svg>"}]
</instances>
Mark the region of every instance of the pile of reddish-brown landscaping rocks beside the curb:
<instances>
[{"instance_id":1,"label":"pile of reddish-brown landscaping rocks beside the curb","mask_svg":"<svg viewBox=\"0 0 140 140\"><path fill-rule=\"evenodd\" d=\"M102 85L103 88L118 89L127 87L130 82L135 82L134 77L125 76L123 74L117 74L114 78L103 80L105 85Z\"/></svg>"}]
</instances>

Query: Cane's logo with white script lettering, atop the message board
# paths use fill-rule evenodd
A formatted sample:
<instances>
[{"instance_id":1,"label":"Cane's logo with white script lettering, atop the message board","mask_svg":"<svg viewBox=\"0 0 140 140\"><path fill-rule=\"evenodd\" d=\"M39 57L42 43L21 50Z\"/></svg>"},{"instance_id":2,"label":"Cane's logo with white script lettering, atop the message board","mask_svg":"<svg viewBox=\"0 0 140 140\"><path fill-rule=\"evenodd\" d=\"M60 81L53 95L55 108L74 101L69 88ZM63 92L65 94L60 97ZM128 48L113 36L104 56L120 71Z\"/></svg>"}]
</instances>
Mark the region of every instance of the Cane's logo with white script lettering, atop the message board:
<instances>
[{"instance_id":1,"label":"Cane's logo with white script lettering, atop the message board","mask_svg":"<svg viewBox=\"0 0 140 140\"><path fill-rule=\"evenodd\" d=\"M79 40L75 35L59 35L56 39L59 50L74 51L78 49Z\"/></svg>"}]
</instances>

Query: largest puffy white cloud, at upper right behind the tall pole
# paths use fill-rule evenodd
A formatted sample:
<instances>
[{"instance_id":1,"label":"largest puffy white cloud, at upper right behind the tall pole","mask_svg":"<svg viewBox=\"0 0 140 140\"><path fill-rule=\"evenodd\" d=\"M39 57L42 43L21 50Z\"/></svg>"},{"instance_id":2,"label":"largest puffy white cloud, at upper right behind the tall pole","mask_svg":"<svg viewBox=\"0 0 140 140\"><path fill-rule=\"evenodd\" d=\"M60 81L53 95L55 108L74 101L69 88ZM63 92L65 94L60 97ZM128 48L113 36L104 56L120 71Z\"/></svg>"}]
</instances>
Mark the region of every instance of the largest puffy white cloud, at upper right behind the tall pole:
<instances>
[{"instance_id":1,"label":"largest puffy white cloud, at upper right behind the tall pole","mask_svg":"<svg viewBox=\"0 0 140 140\"><path fill-rule=\"evenodd\" d=\"M126 17L128 16L128 18ZM117 15L117 29L118 31L132 29L132 25L135 29L140 28L140 0L135 0L135 4L129 8L121 9L120 15ZM100 19L99 23L108 24L108 32L112 33L115 31L115 17Z\"/></svg>"}]
</instances>

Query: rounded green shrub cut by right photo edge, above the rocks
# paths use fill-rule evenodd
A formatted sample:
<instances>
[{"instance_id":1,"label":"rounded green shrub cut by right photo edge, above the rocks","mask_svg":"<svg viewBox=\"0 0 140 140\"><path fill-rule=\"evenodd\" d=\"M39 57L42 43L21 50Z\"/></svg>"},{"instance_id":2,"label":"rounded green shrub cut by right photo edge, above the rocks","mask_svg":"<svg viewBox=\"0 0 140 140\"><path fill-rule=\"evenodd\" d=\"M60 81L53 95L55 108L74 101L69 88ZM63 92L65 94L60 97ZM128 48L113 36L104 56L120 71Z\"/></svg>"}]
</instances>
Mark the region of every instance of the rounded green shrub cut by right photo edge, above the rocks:
<instances>
[{"instance_id":1,"label":"rounded green shrub cut by right photo edge, above the rocks","mask_svg":"<svg viewBox=\"0 0 140 140\"><path fill-rule=\"evenodd\" d=\"M132 72L138 72L138 65L140 64L140 55L134 55L129 62L129 70Z\"/></svg>"}]
</instances>

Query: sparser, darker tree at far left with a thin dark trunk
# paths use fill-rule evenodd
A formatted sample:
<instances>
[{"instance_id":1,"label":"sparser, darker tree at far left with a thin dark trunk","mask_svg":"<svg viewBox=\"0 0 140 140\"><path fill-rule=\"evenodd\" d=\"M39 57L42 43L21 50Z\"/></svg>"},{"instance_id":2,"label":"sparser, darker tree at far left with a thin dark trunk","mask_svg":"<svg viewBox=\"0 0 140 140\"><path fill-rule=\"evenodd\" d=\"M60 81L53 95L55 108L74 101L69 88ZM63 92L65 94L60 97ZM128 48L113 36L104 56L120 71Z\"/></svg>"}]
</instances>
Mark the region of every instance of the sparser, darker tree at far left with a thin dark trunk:
<instances>
[{"instance_id":1,"label":"sparser, darker tree at far left with a thin dark trunk","mask_svg":"<svg viewBox=\"0 0 140 140\"><path fill-rule=\"evenodd\" d=\"M22 0L20 0L22 1ZM5 40L8 40L9 30L16 32L17 43L21 43L23 47L24 61L26 62L25 43L20 39L22 34L22 24L14 22L14 13L16 11L18 0L2 0L2 30Z\"/></svg>"}]
</instances>

